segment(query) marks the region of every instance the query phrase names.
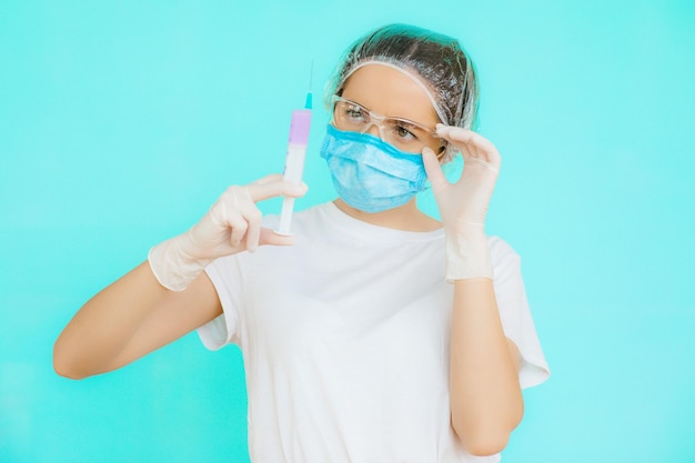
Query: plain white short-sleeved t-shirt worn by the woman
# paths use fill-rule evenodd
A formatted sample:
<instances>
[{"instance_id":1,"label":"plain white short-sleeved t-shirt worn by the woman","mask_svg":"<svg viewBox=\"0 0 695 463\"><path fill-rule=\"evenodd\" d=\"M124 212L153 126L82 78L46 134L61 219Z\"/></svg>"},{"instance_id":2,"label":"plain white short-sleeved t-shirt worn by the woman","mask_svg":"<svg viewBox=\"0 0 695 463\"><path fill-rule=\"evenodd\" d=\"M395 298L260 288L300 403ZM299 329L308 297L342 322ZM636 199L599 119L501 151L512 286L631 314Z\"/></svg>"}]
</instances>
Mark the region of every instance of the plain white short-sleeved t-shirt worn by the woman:
<instances>
[{"instance_id":1,"label":"plain white short-sleeved t-shirt worn by the woman","mask_svg":"<svg viewBox=\"0 0 695 463\"><path fill-rule=\"evenodd\" d=\"M292 246L205 269L224 314L199 334L209 349L242 350L251 460L500 461L469 455L450 424L453 285L444 281L443 230L375 227L325 203L294 214L292 232ZM538 384L548 370L518 255L488 242L504 331L524 359L521 384Z\"/></svg>"}]
</instances>

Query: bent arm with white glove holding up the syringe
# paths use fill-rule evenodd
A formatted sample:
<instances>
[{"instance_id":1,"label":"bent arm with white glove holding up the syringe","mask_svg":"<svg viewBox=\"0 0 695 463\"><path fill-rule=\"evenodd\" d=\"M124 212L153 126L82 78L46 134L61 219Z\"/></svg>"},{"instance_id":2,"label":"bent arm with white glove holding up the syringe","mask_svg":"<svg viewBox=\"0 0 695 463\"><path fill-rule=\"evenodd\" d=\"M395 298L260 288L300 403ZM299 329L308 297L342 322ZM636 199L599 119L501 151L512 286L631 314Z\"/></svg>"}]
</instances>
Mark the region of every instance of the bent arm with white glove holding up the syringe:
<instances>
[{"instance_id":1,"label":"bent arm with white glove holding up the syringe","mask_svg":"<svg viewBox=\"0 0 695 463\"><path fill-rule=\"evenodd\" d=\"M148 262L84 304L56 342L56 371L80 379L118 369L222 313L203 269L259 245L292 244L291 236L262 228L255 204L305 192L281 174L230 187L199 223L152 248Z\"/></svg>"}]
</instances>

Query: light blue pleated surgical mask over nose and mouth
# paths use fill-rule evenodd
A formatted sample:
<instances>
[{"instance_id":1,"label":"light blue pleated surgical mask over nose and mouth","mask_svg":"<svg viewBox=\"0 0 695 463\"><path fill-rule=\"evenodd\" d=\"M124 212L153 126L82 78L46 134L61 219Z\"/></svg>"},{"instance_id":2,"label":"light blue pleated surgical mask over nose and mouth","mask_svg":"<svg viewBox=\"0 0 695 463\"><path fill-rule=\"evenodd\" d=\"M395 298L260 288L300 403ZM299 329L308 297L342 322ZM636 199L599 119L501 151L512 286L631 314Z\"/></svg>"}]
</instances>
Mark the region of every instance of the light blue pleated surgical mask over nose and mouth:
<instances>
[{"instance_id":1,"label":"light blue pleated surgical mask over nose and mouth","mask_svg":"<svg viewBox=\"0 0 695 463\"><path fill-rule=\"evenodd\" d=\"M370 133L329 124L321 147L338 195L364 212L381 212L409 202L424 190L427 174L420 154L406 153Z\"/></svg>"}]
</instances>

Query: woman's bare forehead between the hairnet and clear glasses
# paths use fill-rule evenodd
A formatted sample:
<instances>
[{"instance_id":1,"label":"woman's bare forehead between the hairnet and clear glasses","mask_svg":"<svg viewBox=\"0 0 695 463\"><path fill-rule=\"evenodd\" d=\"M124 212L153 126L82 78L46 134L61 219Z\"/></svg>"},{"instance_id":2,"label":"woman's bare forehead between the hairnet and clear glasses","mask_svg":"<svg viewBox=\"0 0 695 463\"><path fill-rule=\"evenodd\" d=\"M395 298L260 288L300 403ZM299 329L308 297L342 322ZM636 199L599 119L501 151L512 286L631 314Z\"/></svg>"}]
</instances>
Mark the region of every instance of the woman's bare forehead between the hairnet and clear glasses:
<instances>
[{"instance_id":1,"label":"woman's bare forehead between the hairnet and clear glasses","mask_svg":"<svg viewBox=\"0 0 695 463\"><path fill-rule=\"evenodd\" d=\"M366 64L350 76L341 97L373 113L407 119L434 130L439 117L427 93L413 79L391 67ZM380 137L376 125L370 127L367 133ZM427 145L437 152L441 141L431 139Z\"/></svg>"}]
</instances>

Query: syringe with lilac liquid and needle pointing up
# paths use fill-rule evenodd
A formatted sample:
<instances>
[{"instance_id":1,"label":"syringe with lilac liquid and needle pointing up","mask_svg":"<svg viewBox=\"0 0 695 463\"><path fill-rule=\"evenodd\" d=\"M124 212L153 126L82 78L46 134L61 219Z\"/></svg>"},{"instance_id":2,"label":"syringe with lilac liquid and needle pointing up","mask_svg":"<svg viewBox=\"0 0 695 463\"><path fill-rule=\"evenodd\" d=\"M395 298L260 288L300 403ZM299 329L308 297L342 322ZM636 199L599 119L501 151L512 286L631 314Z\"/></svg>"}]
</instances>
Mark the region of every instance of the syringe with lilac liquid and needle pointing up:
<instances>
[{"instance_id":1,"label":"syringe with lilac liquid and needle pointing up","mask_svg":"<svg viewBox=\"0 0 695 463\"><path fill-rule=\"evenodd\" d=\"M313 70L312 70L313 71ZM309 129L311 127L311 79L306 93L304 109L292 111L290 122L290 141L288 153L284 160L284 180L301 183L304 171L304 158L306 155L306 144L309 143ZM280 224L275 230L278 234L292 234L290 225L292 223L292 211L294 210L294 198L285 197L282 201L282 212L280 213Z\"/></svg>"}]
</instances>

